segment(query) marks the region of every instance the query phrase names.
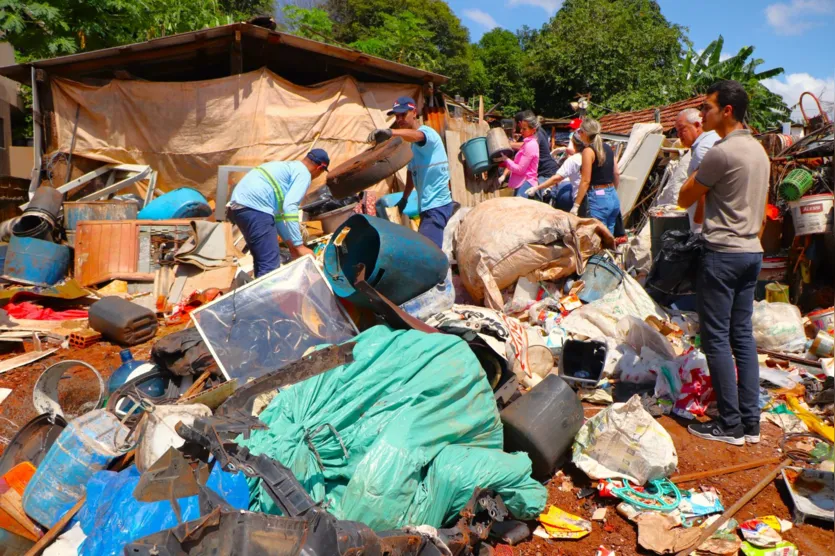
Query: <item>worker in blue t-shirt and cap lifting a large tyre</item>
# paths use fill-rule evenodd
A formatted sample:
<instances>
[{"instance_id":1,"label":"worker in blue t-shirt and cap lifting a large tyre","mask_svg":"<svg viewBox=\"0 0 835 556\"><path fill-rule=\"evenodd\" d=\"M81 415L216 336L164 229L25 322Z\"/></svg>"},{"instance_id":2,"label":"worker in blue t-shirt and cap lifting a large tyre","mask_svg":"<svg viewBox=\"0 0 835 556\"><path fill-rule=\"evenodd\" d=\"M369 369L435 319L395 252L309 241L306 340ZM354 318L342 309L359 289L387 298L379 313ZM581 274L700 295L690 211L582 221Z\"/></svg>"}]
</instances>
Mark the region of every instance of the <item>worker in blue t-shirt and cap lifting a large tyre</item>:
<instances>
[{"instance_id":1,"label":"worker in blue t-shirt and cap lifting a large tyre","mask_svg":"<svg viewBox=\"0 0 835 556\"><path fill-rule=\"evenodd\" d=\"M437 131L420 125L417 106L411 97L398 98L388 115L395 117L392 129L375 129L368 136L368 141L381 143L391 137L401 137L412 144L406 189L397 208L403 212L412 189L417 189L420 212L418 231L440 249L444 244L444 228L452 216L446 148Z\"/></svg>"}]
</instances>

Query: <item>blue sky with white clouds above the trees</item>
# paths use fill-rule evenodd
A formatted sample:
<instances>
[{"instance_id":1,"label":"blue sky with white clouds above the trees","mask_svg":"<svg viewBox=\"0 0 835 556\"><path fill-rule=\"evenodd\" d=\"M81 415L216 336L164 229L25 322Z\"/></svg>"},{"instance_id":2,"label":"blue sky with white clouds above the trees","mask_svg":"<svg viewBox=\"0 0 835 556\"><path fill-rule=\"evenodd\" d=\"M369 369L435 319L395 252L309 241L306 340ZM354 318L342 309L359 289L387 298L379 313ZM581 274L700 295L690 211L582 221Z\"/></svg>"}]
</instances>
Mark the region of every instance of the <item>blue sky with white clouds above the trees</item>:
<instances>
[{"instance_id":1,"label":"blue sky with white clouds above the trees","mask_svg":"<svg viewBox=\"0 0 835 556\"><path fill-rule=\"evenodd\" d=\"M561 0L448 0L477 41L493 27L515 31L522 25L539 28L559 9ZM743 46L756 48L763 69L782 67L786 73L766 86L789 106L810 90L822 100L835 101L835 0L658 0L665 17L689 28L696 50L720 34L724 53ZM810 101L806 101L810 105ZM809 106L811 108L811 106ZM817 110L807 109L807 113Z\"/></svg>"}]
</instances>

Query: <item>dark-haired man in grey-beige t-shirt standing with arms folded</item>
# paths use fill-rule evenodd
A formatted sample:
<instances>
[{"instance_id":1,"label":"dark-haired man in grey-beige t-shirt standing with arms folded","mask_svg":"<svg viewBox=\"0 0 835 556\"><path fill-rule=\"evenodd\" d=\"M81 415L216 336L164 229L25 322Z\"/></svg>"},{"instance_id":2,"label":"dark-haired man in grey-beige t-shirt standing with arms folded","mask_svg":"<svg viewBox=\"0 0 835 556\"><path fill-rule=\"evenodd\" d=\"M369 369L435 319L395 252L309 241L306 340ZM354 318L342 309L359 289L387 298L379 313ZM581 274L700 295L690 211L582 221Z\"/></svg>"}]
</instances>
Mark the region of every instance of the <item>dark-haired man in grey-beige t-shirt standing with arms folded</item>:
<instances>
[{"instance_id":1,"label":"dark-haired man in grey-beige t-shirt standing with arms folded","mask_svg":"<svg viewBox=\"0 0 835 556\"><path fill-rule=\"evenodd\" d=\"M742 123L747 109L748 95L736 81L708 89L701 111L704 129L716 131L721 140L678 198L679 206L688 208L705 197L699 325L719 409L716 421L688 430L735 446L760 440L760 370L751 317L771 171L765 150Z\"/></svg>"}]
</instances>

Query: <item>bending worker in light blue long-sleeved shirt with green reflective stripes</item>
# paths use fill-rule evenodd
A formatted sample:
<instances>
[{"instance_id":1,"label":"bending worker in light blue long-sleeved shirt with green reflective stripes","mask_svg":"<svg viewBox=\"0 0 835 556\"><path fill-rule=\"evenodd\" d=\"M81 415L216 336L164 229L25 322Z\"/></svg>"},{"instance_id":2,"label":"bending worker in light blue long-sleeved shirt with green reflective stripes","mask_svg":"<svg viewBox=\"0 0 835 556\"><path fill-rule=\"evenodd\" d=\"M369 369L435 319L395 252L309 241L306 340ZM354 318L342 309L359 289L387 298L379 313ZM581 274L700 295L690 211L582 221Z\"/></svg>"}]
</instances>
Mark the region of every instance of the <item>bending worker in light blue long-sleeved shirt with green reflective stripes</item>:
<instances>
[{"instance_id":1,"label":"bending worker in light blue long-sleeved shirt with green reflective stripes","mask_svg":"<svg viewBox=\"0 0 835 556\"><path fill-rule=\"evenodd\" d=\"M313 149L302 160L262 164L235 186L227 205L229 220L244 235L256 278L281 266L276 231L294 259L313 254L302 243L299 203L310 182L327 171L328 164L328 153Z\"/></svg>"}]
</instances>

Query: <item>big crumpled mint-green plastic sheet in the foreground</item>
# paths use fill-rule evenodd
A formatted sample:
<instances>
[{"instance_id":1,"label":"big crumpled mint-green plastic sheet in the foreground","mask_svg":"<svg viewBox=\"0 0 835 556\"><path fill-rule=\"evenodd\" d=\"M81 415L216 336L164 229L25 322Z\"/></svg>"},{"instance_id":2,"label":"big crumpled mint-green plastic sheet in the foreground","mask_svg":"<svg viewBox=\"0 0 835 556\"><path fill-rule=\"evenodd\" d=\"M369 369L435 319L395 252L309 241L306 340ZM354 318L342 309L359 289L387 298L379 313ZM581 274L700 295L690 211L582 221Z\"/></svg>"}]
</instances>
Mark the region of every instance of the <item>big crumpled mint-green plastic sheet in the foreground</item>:
<instances>
[{"instance_id":1,"label":"big crumpled mint-green plastic sheet in the foreground","mask_svg":"<svg viewBox=\"0 0 835 556\"><path fill-rule=\"evenodd\" d=\"M527 454L502 451L492 390L463 340L376 326L355 341L353 363L282 390L260 415L269 429L239 443L292 469L338 518L376 530L447 525L476 487L519 519L539 515L545 487ZM280 513L258 479L250 509Z\"/></svg>"}]
</instances>

